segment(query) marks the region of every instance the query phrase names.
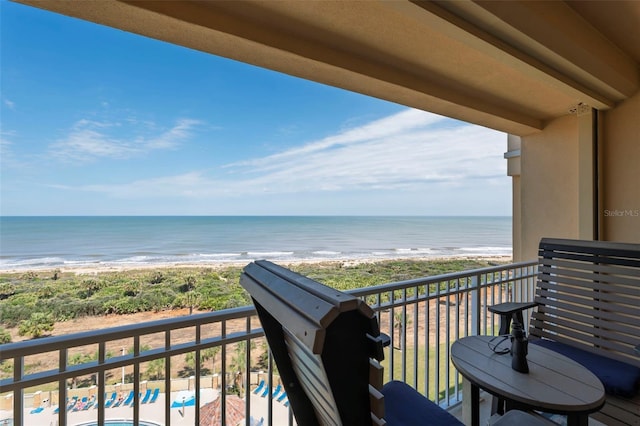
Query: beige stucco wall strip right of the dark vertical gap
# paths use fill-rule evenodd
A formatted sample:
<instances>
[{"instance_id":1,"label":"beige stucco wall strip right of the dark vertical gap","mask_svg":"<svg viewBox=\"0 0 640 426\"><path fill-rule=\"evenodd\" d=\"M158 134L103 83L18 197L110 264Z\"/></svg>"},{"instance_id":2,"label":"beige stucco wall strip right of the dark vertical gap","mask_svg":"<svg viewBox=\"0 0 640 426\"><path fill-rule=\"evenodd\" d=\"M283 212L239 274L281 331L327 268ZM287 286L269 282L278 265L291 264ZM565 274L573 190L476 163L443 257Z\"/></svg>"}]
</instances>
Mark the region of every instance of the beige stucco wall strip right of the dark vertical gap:
<instances>
[{"instance_id":1,"label":"beige stucco wall strip right of the dark vertical gap","mask_svg":"<svg viewBox=\"0 0 640 426\"><path fill-rule=\"evenodd\" d=\"M602 239L639 243L640 93L602 116Z\"/></svg>"}]
</instances>

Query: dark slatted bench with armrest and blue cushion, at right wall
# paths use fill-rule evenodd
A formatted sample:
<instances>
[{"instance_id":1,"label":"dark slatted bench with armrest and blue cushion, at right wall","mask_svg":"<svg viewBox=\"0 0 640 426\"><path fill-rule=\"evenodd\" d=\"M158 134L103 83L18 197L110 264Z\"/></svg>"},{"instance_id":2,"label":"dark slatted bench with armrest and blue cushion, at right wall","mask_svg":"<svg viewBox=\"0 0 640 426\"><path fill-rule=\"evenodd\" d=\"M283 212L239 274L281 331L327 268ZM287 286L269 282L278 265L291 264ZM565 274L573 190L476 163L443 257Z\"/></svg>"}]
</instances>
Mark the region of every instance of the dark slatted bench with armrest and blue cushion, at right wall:
<instances>
[{"instance_id":1,"label":"dark slatted bench with armrest and blue cushion, at right wall","mask_svg":"<svg viewBox=\"0 0 640 426\"><path fill-rule=\"evenodd\" d=\"M640 425L640 244L543 238L529 342L591 370L607 401L591 415L607 425ZM517 304L490 308L501 323ZM501 333L505 332L501 325Z\"/></svg>"}]
</instances>

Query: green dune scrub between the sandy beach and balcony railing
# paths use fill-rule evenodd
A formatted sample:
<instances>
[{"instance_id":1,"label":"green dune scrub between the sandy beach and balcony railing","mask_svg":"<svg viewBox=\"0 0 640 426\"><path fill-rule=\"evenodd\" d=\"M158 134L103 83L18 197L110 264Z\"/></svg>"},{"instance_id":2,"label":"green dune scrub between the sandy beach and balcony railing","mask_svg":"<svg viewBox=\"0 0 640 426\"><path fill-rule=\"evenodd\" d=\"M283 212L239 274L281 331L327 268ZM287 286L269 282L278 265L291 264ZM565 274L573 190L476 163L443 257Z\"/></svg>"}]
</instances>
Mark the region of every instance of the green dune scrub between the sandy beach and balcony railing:
<instances>
[{"instance_id":1,"label":"green dune scrub between the sandy beach and balcony railing","mask_svg":"<svg viewBox=\"0 0 640 426\"><path fill-rule=\"evenodd\" d=\"M508 261L505 260L505 262ZM340 290L495 265L484 259L315 262L292 270ZM251 304L239 285L244 265L160 267L157 271L51 271L0 273L0 322L39 337L53 322L189 308L215 311ZM90 276L88 276L91 274ZM430 291L435 289L430 289Z\"/></svg>"}]
</instances>

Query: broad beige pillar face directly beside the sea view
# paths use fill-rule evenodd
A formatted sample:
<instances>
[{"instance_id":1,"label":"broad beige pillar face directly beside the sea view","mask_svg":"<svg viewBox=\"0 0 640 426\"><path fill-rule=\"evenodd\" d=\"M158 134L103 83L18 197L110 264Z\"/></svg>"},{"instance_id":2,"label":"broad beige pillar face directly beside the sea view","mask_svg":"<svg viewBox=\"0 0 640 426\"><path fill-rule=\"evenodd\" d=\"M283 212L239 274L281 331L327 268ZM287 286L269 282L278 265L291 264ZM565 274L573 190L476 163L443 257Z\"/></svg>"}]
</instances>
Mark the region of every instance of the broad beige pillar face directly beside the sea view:
<instances>
[{"instance_id":1,"label":"broad beige pillar face directly beside the sea view","mask_svg":"<svg viewBox=\"0 0 640 426\"><path fill-rule=\"evenodd\" d=\"M522 228L514 260L531 260L542 237L578 238L577 117L561 117L523 137L521 150Z\"/></svg>"}]
</instances>

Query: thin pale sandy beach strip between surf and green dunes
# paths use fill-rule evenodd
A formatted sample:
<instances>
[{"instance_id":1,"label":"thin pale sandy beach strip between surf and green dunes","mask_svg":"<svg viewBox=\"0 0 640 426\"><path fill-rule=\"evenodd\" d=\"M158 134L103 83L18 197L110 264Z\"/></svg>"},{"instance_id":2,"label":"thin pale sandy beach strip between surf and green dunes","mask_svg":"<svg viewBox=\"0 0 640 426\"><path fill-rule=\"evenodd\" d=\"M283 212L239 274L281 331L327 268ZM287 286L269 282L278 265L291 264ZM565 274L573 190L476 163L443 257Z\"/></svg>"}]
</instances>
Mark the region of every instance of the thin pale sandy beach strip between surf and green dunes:
<instances>
[{"instance_id":1,"label":"thin pale sandy beach strip between surf and green dunes","mask_svg":"<svg viewBox=\"0 0 640 426\"><path fill-rule=\"evenodd\" d=\"M507 255L495 255L495 254L466 254L466 255L442 255L442 256L425 256L425 257L375 257L375 258L339 258L339 259L295 259L295 260L272 260L274 263L283 266L292 265L312 265L312 264L342 264L343 266L355 266L366 263L382 263L388 261L415 261L415 262L429 262L429 261L443 261L443 260L475 260L480 259L487 262L509 263L512 262L513 257ZM179 262L158 262L158 263L140 263L140 264L118 264L118 263L101 263L90 265L60 265L60 266L42 266L42 267L24 267L24 268L0 268L0 274L24 274L28 272L35 273L48 273L60 271L61 273L75 273L76 275L96 275L108 272L126 272L126 271L142 271L153 269L201 269L211 268L214 270L240 267L247 265L257 259L243 259L243 260L228 260L218 262L197 262L197 263L179 263Z\"/></svg>"}]
</instances>

